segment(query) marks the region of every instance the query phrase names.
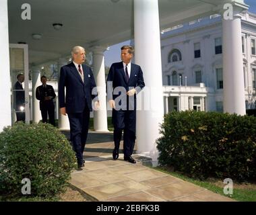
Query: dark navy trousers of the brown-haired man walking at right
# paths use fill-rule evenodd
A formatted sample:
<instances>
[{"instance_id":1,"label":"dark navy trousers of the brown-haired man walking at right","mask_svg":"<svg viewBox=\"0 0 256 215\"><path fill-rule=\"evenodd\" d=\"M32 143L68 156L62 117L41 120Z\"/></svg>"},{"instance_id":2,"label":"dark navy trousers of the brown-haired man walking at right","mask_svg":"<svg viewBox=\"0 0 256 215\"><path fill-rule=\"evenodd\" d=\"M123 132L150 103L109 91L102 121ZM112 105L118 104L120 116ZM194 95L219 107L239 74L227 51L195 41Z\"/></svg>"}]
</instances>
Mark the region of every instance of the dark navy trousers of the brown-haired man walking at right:
<instances>
[{"instance_id":1,"label":"dark navy trousers of the brown-haired man walking at right","mask_svg":"<svg viewBox=\"0 0 256 215\"><path fill-rule=\"evenodd\" d=\"M115 113L114 113L115 112ZM136 111L114 111L114 142L115 150L119 150L120 141L123 132L123 154L124 157L129 157L133 154L135 145L135 125Z\"/></svg>"}]
</instances>

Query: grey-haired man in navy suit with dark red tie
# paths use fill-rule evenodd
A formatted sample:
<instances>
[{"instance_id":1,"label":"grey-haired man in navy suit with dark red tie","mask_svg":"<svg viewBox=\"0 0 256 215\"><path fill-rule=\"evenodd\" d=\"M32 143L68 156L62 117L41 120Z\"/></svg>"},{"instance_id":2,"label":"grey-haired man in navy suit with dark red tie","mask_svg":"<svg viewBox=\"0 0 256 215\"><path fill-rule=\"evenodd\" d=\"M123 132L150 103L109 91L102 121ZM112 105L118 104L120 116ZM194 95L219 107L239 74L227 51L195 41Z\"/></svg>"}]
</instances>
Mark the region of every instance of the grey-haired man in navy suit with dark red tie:
<instances>
[{"instance_id":1,"label":"grey-haired man in navy suit with dark red tie","mask_svg":"<svg viewBox=\"0 0 256 215\"><path fill-rule=\"evenodd\" d=\"M81 46L75 46L71 54L73 61L61 67L59 107L61 114L67 114L69 117L70 139L77 157L77 168L81 169L84 167L83 152L88 135L92 99L96 110L99 102L92 70L82 64L86 60L86 51Z\"/></svg>"}]
</instances>

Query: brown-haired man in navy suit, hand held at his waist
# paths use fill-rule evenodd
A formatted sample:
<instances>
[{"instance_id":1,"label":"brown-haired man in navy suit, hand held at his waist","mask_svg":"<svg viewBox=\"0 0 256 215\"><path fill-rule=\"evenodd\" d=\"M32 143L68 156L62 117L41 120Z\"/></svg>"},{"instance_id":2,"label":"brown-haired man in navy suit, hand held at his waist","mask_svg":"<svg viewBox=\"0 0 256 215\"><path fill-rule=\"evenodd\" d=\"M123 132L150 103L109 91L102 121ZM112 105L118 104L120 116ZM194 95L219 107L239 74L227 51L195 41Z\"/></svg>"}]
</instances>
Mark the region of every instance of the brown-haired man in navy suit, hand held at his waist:
<instances>
[{"instance_id":1,"label":"brown-haired man in navy suit, hand held at his waist","mask_svg":"<svg viewBox=\"0 0 256 215\"><path fill-rule=\"evenodd\" d=\"M119 145L123 134L124 160L136 163L131 157L135 144L136 130L136 93L145 86L141 67L131 63L134 49L132 46L121 48L122 62L111 65L107 78L107 95L110 107L113 108L114 125L113 159L119 157ZM117 93L115 92L117 91Z\"/></svg>"}]
</instances>

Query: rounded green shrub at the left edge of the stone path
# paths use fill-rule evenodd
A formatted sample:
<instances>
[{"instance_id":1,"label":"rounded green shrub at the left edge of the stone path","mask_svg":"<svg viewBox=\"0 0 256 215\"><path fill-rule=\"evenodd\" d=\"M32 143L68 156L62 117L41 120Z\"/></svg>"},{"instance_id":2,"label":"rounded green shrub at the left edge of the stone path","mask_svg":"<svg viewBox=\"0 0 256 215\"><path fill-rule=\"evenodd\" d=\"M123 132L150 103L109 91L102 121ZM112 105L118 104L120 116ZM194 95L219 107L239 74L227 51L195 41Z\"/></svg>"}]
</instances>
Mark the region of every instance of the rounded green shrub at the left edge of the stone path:
<instances>
[{"instance_id":1,"label":"rounded green shrub at the left edge of the stone path","mask_svg":"<svg viewBox=\"0 0 256 215\"><path fill-rule=\"evenodd\" d=\"M17 123L0 133L0 193L22 196L22 179L31 181L31 197L65 190L75 167L69 141L51 124Z\"/></svg>"}]
</instances>

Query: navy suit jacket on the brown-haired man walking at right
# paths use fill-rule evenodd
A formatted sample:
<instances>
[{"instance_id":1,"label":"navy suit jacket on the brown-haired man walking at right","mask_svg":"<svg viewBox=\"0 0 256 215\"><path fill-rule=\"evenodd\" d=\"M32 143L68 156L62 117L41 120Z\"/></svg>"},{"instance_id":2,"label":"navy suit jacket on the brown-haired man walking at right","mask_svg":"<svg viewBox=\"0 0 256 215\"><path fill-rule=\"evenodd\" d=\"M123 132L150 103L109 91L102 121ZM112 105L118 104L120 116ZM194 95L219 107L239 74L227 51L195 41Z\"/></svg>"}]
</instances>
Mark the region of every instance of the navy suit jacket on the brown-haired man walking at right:
<instances>
[{"instance_id":1,"label":"navy suit jacket on the brown-haired man walking at right","mask_svg":"<svg viewBox=\"0 0 256 215\"><path fill-rule=\"evenodd\" d=\"M107 83L106 83L108 100L110 99L115 100L117 97L121 95L121 91L117 95L115 95L116 93L114 92L114 90L116 87L123 87L123 89L126 92L129 91L131 88L135 88L137 93L139 93L139 91L141 91L141 89L145 87L141 67L139 67L139 65L137 64L131 63L131 74L129 77L129 81L127 82L125 77L125 70L123 68L123 62L113 63L109 69ZM123 98L124 102L122 102L121 100L119 101L119 105L121 105L121 108L127 107L127 99L128 99L128 96L126 96L124 92L122 93L125 97ZM131 98L134 99L134 109L136 109L136 94L133 97L129 97L129 101L131 101L130 100Z\"/></svg>"}]
</instances>

